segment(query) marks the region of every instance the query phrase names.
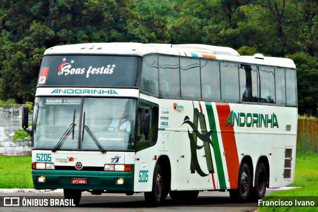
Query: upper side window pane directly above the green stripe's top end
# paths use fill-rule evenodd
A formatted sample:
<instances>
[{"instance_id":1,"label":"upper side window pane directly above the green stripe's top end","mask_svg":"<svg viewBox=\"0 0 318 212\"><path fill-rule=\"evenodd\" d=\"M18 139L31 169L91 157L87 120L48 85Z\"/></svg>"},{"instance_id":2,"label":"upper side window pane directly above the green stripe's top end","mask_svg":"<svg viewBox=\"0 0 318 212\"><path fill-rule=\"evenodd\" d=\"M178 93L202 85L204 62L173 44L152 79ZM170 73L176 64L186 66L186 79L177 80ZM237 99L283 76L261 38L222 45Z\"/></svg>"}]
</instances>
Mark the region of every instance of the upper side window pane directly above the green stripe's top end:
<instances>
[{"instance_id":1,"label":"upper side window pane directly above the green stripe's top end","mask_svg":"<svg viewBox=\"0 0 318 212\"><path fill-rule=\"evenodd\" d=\"M201 60L201 90L204 100L221 100L220 63Z\"/></svg>"}]
</instances>

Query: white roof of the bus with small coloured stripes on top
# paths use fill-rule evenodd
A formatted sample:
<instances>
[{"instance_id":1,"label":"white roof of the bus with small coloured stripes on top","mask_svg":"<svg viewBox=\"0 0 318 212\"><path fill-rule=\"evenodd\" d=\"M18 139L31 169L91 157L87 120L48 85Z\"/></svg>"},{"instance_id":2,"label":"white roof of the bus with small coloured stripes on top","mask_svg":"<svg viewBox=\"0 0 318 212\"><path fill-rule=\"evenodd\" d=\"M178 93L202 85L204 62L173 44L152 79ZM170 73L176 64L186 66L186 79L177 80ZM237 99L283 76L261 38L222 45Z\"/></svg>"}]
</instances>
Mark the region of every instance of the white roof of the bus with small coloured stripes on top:
<instances>
[{"instance_id":1,"label":"white roof of the bus with small coloured stripes on top","mask_svg":"<svg viewBox=\"0 0 318 212\"><path fill-rule=\"evenodd\" d=\"M44 55L110 54L144 56L153 53L296 69L294 62L290 59L264 57L261 54L240 56L236 50L229 47L203 44L85 43L55 46L47 49Z\"/></svg>"}]
</instances>

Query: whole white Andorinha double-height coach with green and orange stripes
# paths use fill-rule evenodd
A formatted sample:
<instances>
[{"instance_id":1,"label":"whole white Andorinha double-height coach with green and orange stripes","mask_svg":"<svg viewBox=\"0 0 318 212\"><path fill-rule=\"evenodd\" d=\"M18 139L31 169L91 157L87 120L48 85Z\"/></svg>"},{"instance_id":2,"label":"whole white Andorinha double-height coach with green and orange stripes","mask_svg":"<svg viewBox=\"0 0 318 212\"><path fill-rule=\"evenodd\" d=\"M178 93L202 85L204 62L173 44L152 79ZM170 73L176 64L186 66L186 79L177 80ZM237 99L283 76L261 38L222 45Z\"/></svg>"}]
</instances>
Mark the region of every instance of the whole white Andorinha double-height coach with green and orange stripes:
<instances>
[{"instance_id":1,"label":"whole white Andorinha double-height coach with green and orange stripes","mask_svg":"<svg viewBox=\"0 0 318 212\"><path fill-rule=\"evenodd\" d=\"M30 133L34 188L76 204L83 191L144 192L153 206L204 190L261 199L294 180L296 67L208 45L56 46Z\"/></svg>"}]
</instances>

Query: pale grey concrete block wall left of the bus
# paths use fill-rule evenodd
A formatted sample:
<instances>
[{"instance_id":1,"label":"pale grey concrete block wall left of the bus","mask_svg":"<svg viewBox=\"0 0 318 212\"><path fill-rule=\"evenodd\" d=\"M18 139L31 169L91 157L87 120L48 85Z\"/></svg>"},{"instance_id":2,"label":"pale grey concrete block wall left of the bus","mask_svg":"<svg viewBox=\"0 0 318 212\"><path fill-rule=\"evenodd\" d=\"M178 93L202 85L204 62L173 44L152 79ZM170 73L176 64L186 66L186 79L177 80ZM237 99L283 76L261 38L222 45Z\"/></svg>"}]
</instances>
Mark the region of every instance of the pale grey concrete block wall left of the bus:
<instances>
[{"instance_id":1,"label":"pale grey concrete block wall left of the bus","mask_svg":"<svg viewBox=\"0 0 318 212\"><path fill-rule=\"evenodd\" d=\"M31 153L31 141L12 141L14 132L22 129L22 105L0 106L0 155Z\"/></svg>"}]
</instances>

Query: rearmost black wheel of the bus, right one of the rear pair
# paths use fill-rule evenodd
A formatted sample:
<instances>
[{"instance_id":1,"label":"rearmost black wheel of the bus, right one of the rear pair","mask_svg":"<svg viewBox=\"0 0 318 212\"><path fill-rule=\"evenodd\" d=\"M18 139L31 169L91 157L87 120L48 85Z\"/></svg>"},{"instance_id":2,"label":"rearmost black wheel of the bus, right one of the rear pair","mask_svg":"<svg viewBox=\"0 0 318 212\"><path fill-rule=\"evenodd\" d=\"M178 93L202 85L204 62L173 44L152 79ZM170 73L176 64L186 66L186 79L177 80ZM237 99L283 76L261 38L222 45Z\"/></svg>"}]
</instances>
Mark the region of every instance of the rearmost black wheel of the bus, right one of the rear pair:
<instances>
[{"instance_id":1,"label":"rearmost black wheel of the bus, right one of the rear pair","mask_svg":"<svg viewBox=\"0 0 318 212\"><path fill-rule=\"evenodd\" d=\"M263 162L259 162L255 170L254 187L250 195L251 201L258 201L265 196L267 187L267 170Z\"/></svg>"}]
</instances>

